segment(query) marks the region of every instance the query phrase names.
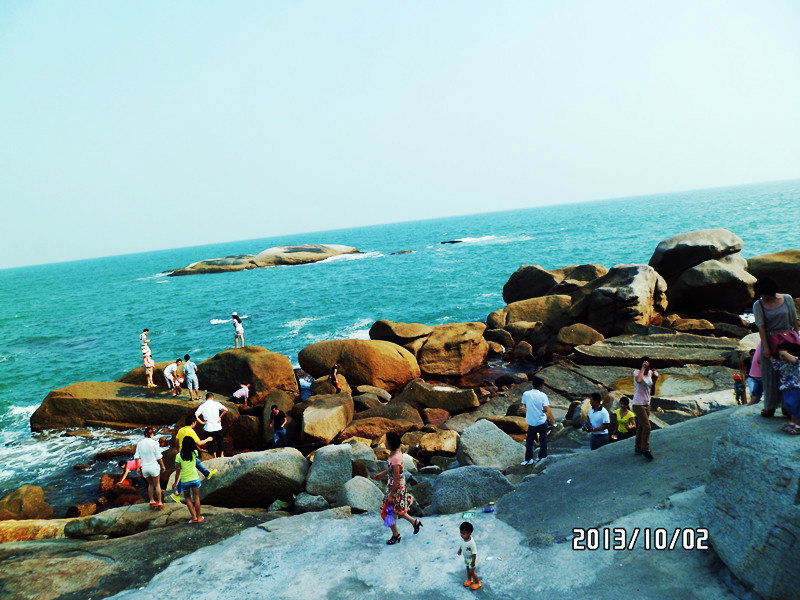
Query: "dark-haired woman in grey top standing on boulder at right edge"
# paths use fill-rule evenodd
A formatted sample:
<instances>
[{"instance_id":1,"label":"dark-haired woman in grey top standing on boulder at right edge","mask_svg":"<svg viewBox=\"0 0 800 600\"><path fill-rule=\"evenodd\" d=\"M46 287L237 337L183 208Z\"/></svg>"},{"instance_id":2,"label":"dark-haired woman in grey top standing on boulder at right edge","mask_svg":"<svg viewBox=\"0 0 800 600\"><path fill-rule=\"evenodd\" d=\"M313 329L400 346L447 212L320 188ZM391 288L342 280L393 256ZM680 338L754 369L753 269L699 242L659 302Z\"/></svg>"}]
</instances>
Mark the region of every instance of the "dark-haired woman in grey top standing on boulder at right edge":
<instances>
[{"instance_id":1,"label":"dark-haired woman in grey top standing on boulder at right edge","mask_svg":"<svg viewBox=\"0 0 800 600\"><path fill-rule=\"evenodd\" d=\"M764 387L764 410L761 416L770 418L783 402L780 380L771 359L777 357L778 344L800 344L796 329L797 311L792 297L778 294L778 284L768 277L758 279L753 291L759 296L753 303L753 317L761 338L756 348L756 354L761 356L761 383Z\"/></svg>"}]
</instances>

